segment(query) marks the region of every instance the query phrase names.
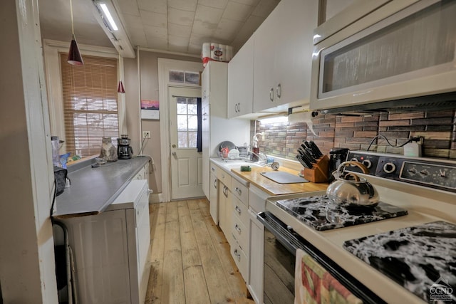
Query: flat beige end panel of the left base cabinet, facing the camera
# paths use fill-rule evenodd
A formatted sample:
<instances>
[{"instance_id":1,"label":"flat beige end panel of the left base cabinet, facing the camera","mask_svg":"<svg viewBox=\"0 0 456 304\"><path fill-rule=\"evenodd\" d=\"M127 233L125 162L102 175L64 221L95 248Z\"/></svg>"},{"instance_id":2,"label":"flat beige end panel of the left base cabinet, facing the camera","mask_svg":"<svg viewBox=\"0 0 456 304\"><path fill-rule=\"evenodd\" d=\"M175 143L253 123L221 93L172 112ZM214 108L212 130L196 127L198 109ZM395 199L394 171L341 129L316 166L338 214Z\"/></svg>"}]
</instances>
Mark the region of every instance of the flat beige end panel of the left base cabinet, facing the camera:
<instances>
[{"instance_id":1,"label":"flat beige end panel of the left base cabinet, facing the camera","mask_svg":"<svg viewBox=\"0 0 456 304\"><path fill-rule=\"evenodd\" d=\"M80 302L130 303L125 210L104 211L63 223L75 256Z\"/></svg>"}]
</instances>

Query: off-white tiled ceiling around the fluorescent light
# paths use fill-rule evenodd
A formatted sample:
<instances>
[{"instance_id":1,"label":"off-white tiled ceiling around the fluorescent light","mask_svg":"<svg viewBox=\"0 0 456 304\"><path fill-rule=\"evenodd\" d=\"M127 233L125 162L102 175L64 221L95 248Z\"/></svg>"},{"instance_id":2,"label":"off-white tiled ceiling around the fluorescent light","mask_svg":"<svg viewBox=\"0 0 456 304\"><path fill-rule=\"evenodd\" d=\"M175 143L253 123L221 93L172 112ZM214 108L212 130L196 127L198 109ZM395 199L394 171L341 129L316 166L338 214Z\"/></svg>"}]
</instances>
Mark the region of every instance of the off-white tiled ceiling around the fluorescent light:
<instances>
[{"instance_id":1,"label":"off-white tiled ceiling around the fluorescent light","mask_svg":"<svg viewBox=\"0 0 456 304\"><path fill-rule=\"evenodd\" d=\"M133 47L201 54L202 43L236 52L280 0L113 0ZM68 0L38 0L43 38L67 41ZM73 0L78 43L112 46L90 11L90 0ZM103 35L103 36L101 36Z\"/></svg>"}]
</instances>

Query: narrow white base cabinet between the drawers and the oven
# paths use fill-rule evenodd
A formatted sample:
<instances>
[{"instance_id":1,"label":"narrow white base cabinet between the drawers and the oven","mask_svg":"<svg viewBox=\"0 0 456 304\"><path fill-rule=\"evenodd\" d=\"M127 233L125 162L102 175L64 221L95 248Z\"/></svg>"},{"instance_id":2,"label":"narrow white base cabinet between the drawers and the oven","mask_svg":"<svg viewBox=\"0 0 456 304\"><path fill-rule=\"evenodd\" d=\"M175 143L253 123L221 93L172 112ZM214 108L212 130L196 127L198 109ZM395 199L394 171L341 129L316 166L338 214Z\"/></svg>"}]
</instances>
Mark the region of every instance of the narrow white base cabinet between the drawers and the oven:
<instances>
[{"instance_id":1,"label":"narrow white base cabinet between the drawers and the oven","mask_svg":"<svg viewBox=\"0 0 456 304\"><path fill-rule=\"evenodd\" d=\"M249 188L249 289L255 303L263 303L263 261L264 261L264 226L257 219L257 214L263 212L267 194L257 187Z\"/></svg>"}]
</instances>

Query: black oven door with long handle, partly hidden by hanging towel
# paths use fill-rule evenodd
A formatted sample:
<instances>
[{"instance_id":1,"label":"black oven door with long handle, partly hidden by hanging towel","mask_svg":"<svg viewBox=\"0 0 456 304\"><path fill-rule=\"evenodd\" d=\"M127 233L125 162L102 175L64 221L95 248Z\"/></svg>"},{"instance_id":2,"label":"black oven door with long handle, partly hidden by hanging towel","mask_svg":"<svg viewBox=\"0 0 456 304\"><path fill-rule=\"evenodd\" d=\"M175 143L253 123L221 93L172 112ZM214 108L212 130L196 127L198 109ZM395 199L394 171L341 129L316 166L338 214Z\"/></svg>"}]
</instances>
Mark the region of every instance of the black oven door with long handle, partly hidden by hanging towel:
<instances>
[{"instance_id":1,"label":"black oven door with long handle, partly hidden by hanging towel","mask_svg":"<svg viewBox=\"0 0 456 304\"><path fill-rule=\"evenodd\" d=\"M271 212L262 212L257 219L264 224L264 303L294 303L297 248L308 253L363 303L385 303Z\"/></svg>"}]
</instances>

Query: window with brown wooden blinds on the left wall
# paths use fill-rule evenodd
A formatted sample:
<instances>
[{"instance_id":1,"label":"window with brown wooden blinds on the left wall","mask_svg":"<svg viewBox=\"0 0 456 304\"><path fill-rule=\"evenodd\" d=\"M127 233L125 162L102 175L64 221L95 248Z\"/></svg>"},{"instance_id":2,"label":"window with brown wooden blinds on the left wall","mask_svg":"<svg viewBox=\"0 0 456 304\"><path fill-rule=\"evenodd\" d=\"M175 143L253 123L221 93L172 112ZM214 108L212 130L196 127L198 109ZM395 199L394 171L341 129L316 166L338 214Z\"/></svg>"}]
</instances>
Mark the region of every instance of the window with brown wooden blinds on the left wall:
<instances>
[{"instance_id":1,"label":"window with brown wooden blinds on the left wall","mask_svg":"<svg viewBox=\"0 0 456 304\"><path fill-rule=\"evenodd\" d=\"M66 151L88 157L99 154L102 137L117 146L117 58L84 56L84 65L67 63L61 53Z\"/></svg>"}]
</instances>

